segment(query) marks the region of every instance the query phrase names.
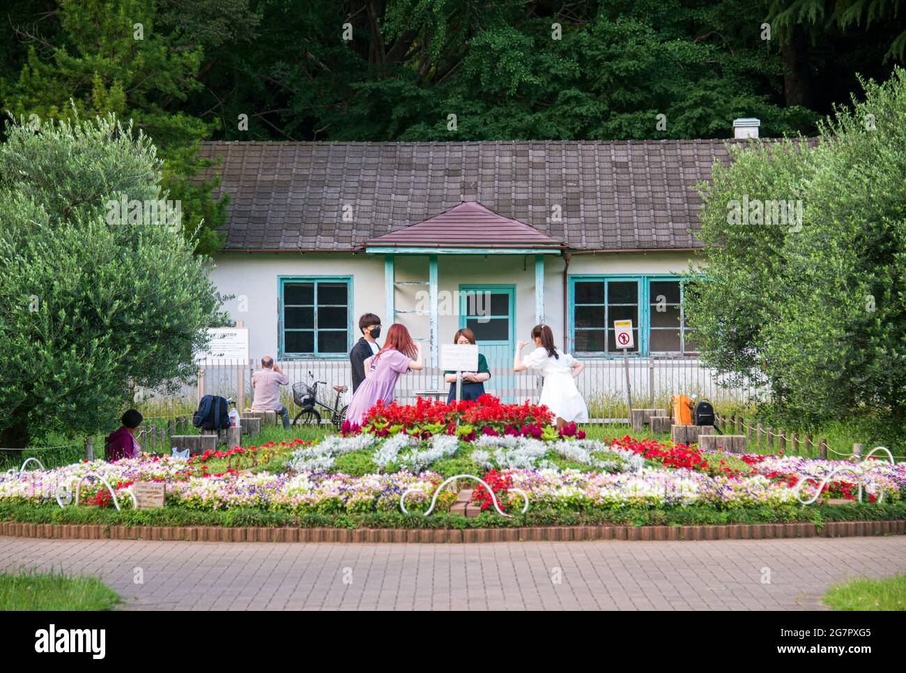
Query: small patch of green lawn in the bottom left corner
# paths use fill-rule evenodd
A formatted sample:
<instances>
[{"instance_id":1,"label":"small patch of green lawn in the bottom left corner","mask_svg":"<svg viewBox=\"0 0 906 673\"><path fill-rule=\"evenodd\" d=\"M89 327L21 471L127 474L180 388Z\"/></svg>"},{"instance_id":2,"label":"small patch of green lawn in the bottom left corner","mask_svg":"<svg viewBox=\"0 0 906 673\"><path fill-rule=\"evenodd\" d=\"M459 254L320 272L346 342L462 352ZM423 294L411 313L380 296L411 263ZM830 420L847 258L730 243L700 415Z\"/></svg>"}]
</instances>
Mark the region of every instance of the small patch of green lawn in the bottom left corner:
<instances>
[{"instance_id":1,"label":"small patch of green lawn in the bottom left corner","mask_svg":"<svg viewBox=\"0 0 906 673\"><path fill-rule=\"evenodd\" d=\"M39 572L0 572L0 610L112 610L120 597L101 580Z\"/></svg>"}]
</instances>

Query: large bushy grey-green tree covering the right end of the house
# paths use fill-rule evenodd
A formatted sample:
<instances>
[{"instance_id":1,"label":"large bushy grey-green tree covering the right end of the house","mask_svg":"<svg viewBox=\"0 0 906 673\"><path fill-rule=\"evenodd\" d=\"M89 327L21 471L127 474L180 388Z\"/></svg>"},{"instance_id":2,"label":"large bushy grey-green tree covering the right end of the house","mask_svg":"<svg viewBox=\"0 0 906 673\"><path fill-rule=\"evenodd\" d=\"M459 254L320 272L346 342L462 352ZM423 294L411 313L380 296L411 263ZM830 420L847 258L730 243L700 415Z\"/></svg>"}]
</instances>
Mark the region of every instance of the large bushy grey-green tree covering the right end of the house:
<instances>
[{"instance_id":1,"label":"large bushy grey-green tree covering the right end of the house","mask_svg":"<svg viewBox=\"0 0 906 673\"><path fill-rule=\"evenodd\" d=\"M864 97L821 124L813 150L756 143L715 167L687 315L708 365L766 383L779 412L811 424L858 415L900 441L906 70L864 83Z\"/></svg>"}]
</instances>

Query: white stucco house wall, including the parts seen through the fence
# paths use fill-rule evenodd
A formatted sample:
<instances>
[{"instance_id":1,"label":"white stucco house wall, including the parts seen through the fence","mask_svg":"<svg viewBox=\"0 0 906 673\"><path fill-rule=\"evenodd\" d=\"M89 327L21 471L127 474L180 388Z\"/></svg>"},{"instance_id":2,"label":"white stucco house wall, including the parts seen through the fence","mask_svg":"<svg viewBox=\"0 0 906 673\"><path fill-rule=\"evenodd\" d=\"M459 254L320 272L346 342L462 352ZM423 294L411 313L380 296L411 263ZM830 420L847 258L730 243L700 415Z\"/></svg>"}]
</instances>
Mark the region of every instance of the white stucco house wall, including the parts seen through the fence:
<instances>
[{"instance_id":1,"label":"white stucco house wall, including the parts seen through the fence","mask_svg":"<svg viewBox=\"0 0 906 673\"><path fill-rule=\"evenodd\" d=\"M688 268L694 259L688 253L619 253L601 255L574 255L569 267L573 274L602 275L644 275L679 272ZM397 280L427 280L428 259L396 258ZM287 254L287 253L225 253L217 256L211 279L224 294L235 295L224 308L234 320L243 320L249 329L249 355L255 360L261 356L278 356L278 278L280 276L351 276L352 277L352 323L365 312L381 316L386 333L390 318L384 306L384 258L366 254ZM449 293L447 306L452 311L439 316L439 343L448 343L459 327L458 301L450 301L461 284L510 285L516 288L516 334L515 340L528 340L529 332L535 325L535 258L529 256L490 255L440 256L439 292ZM554 329L559 344L564 336L564 259L560 256L545 256L545 322ZM398 309L414 308L416 292L427 286L398 286L395 300ZM246 310L241 311L240 302ZM440 302L443 306L443 302ZM428 320L425 317L398 316L413 333L413 336L428 335ZM352 340L358 338L354 330ZM487 354L486 354L487 355ZM489 356L489 361L490 361ZM257 366L256 363L254 365ZM349 385L349 364L345 358L325 359L313 362L311 358L301 361L283 361L281 366L293 381L306 380L308 371L333 384ZM507 367L506 362L491 362ZM209 392L215 392L217 385L236 386L235 368L226 367L223 372L208 372ZM224 379L217 384L219 378ZM531 377L516 378L496 376L496 385L512 385L520 390L531 384ZM635 358L631 360L633 395L666 400L677 392L696 393L719 399L724 393L718 390L711 373L700 369L696 360L659 360ZM622 404L624 372L620 359L590 359L586 369L577 380L583 395L595 403L593 415L616 417ZM527 383L526 383L527 382ZM246 392L250 392L247 388ZM410 398L419 390L443 388L439 370L410 374L400 384L398 395ZM226 387L225 387L226 386ZM493 385L491 386L494 387ZM229 391L225 395L232 395ZM520 395L525 396L520 393ZM530 396L530 395L529 395ZM521 399L522 397L520 397ZM601 400L608 401L608 407ZM348 399L347 399L348 401ZM614 406L615 405L615 406ZM610 409L609 411L607 409Z\"/></svg>"}]
</instances>

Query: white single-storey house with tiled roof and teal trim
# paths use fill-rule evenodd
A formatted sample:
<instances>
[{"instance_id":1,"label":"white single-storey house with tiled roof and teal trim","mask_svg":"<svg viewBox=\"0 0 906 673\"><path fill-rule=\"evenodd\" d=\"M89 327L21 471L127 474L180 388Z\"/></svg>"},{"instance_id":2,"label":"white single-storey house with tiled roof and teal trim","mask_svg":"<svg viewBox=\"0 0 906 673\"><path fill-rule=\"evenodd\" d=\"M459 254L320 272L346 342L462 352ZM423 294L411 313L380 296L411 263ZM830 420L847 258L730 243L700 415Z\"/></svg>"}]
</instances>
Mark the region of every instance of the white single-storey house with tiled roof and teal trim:
<instances>
[{"instance_id":1,"label":"white single-storey house with tiled roof and teal trim","mask_svg":"<svg viewBox=\"0 0 906 673\"><path fill-rule=\"evenodd\" d=\"M208 142L230 194L211 278L234 295L253 358L330 370L332 383L365 312L385 332L410 327L432 364L471 327L490 366L509 366L545 323L607 367L622 358L621 318L636 366L692 362L674 274L702 248L693 186L732 142Z\"/></svg>"}]
</instances>

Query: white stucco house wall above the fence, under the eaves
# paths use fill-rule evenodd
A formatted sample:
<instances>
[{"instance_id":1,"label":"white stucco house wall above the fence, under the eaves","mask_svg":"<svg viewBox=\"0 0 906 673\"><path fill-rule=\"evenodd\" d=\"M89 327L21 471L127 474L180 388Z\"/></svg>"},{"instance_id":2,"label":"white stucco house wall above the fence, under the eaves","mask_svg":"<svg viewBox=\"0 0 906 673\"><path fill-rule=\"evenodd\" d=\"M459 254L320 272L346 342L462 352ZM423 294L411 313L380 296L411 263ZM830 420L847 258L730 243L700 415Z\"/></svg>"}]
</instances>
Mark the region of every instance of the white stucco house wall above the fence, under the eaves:
<instances>
[{"instance_id":1,"label":"white stucco house wall above the fence, under the eaves","mask_svg":"<svg viewBox=\"0 0 906 673\"><path fill-rule=\"evenodd\" d=\"M651 274L679 272L687 268L688 253L619 253L573 255L572 274ZM384 258L367 254L334 253L225 253L218 255L211 279L225 295L235 295L225 304L234 320L249 328L250 355L277 355L277 302L280 276L352 276L352 317L376 313L390 325L386 315ZM564 335L564 258L545 256L545 323L562 343ZM535 325L535 258L532 255L439 256L439 292L448 293L450 311L439 316L439 342L452 339L459 327L456 292L463 284L516 286L516 340L528 340ZM396 258L397 280L427 280L428 258ZM397 309L415 308L419 290L427 286L398 286ZM443 307L444 297L441 297ZM246 310L241 311L240 306ZM398 321L410 327L413 336L428 336L425 317L400 315ZM386 329L386 327L385 327ZM358 334L354 335L358 338ZM353 338L353 340L354 340Z\"/></svg>"}]
</instances>

